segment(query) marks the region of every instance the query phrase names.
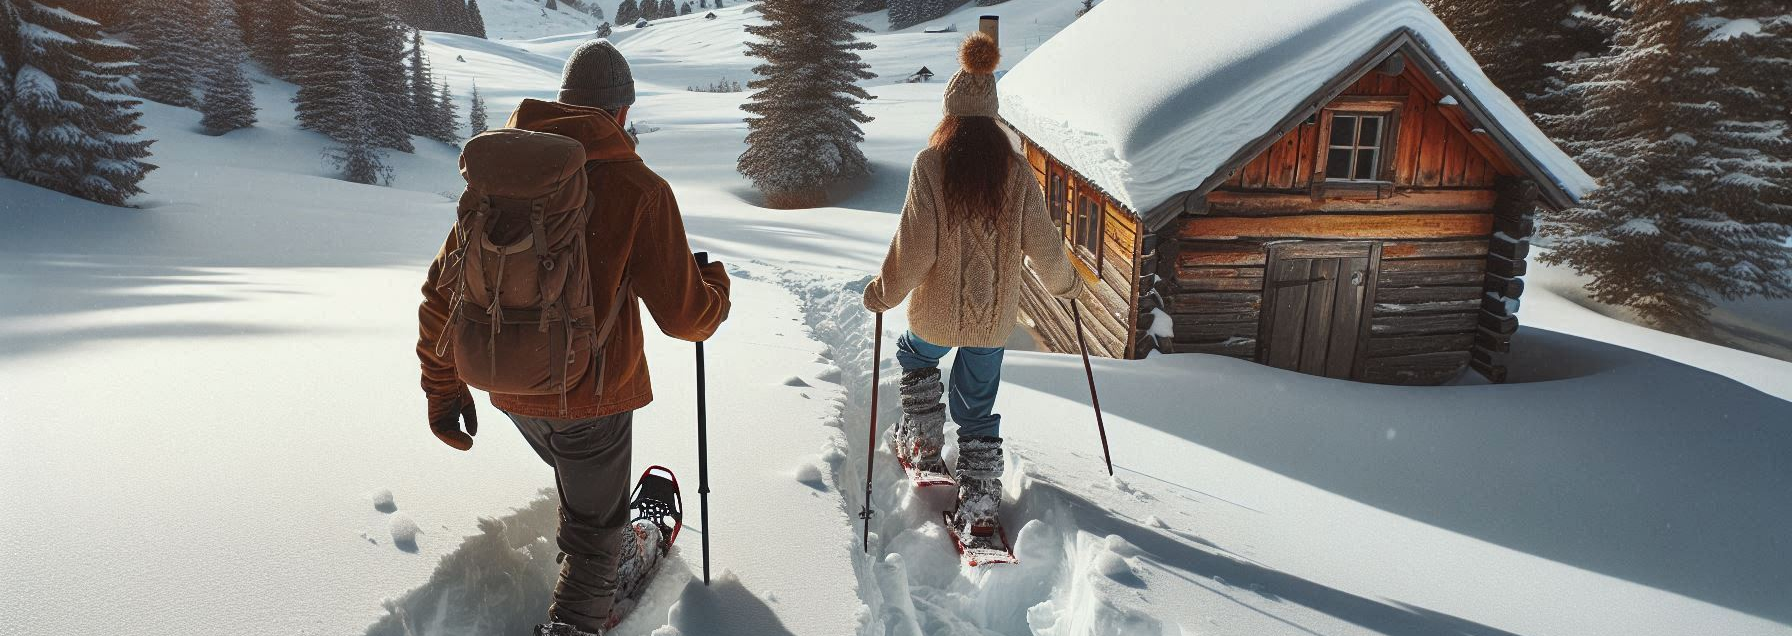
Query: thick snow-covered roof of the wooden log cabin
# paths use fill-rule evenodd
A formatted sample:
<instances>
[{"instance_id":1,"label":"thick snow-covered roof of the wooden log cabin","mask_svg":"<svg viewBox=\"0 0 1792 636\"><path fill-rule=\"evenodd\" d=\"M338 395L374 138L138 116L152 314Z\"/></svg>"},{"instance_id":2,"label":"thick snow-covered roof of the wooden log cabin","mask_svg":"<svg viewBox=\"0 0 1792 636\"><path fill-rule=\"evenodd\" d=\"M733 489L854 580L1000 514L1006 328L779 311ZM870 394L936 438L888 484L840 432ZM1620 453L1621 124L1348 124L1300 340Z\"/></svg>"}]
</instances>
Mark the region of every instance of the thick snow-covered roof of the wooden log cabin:
<instances>
[{"instance_id":1,"label":"thick snow-covered roof of the wooden log cabin","mask_svg":"<svg viewBox=\"0 0 1792 636\"><path fill-rule=\"evenodd\" d=\"M1159 220L1401 38L1555 204L1593 188L1419 0L1107 0L1002 77L1002 118Z\"/></svg>"}]
</instances>

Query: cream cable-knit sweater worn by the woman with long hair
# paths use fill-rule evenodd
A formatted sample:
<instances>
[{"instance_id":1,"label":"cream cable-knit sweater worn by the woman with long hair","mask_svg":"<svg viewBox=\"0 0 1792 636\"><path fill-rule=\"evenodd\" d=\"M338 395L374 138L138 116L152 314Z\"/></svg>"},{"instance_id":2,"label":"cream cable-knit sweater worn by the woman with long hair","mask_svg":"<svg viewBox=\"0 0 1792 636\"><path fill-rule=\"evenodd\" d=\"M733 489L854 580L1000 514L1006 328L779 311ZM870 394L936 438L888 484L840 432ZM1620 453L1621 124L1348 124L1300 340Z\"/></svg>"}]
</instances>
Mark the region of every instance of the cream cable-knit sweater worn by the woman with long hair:
<instances>
[{"instance_id":1,"label":"cream cable-knit sweater worn by the woman with long hair","mask_svg":"<svg viewBox=\"0 0 1792 636\"><path fill-rule=\"evenodd\" d=\"M885 312L912 292L909 330L948 348L998 348L1020 315L1021 258L1057 297L1073 297L1077 272L1057 226L1045 211L1045 193L1014 161L1007 210L995 233L977 222L946 219L941 201L941 158L934 149L914 158L909 202L883 256L883 271L866 287L866 308Z\"/></svg>"}]
</instances>

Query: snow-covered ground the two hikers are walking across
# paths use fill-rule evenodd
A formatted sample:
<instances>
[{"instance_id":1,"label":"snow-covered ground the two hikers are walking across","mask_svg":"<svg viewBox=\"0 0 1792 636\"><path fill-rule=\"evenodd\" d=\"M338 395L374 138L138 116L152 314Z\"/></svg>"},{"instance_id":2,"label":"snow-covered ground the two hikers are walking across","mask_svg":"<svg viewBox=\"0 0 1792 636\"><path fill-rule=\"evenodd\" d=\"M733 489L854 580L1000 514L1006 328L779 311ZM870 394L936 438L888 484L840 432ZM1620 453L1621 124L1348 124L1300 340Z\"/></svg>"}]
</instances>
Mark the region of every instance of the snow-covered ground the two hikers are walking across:
<instances>
[{"instance_id":1,"label":"snow-covered ground the two hikers are walking across","mask_svg":"<svg viewBox=\"0 0 1792 636\"><path fill-rule=\"evenodd\" d=\"M530 0L491 5L507 2ZM1012 64L1075 7L941 23L987 11ZM935 521L948 494L909 489L887 453L866 555L871 315L849 288L939 113L943 82L898 81L946 73L957 36L869 36L876 174L839 208L771 211L733 172L744 93L685 90L753 64L753 14L719 14L616 36L656 129L642 154L737 276L708 344L713 530L692 348L649 337L658 401L634 460L679 471L692 514L618 632L1792 634L1792 364L1606 317L1550 269L1507 385L1095 360L1113 478L1081 360L1014 351L998 410L1021 563L959 568ZM430 54L504 113L550 97L582 38L430 36ZM0 181L0 636L520 634L545 604L548 468L489 408L475 450L448 450L416 387L455 149L394 156L392 188L335 181L290 86L258 97L263 124L222 138L147 106L161 168L143 210ZM885 358L903 321L887 315Z\"/></svg>"}]
</instances>

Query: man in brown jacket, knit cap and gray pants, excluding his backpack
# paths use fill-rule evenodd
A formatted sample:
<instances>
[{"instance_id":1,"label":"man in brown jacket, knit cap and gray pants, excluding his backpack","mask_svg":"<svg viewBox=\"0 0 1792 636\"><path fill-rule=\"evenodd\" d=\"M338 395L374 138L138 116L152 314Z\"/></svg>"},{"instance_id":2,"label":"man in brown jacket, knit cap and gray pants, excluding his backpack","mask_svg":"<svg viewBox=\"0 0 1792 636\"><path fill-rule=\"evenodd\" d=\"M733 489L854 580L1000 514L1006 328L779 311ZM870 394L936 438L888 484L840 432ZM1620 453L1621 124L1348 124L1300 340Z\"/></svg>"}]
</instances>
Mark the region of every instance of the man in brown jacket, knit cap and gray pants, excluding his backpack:
<instances>
[{"instance_id":1,"label":"man in brown jacket, knit cap and gray pants, excluding his backpack","mask_svg":"<svg viewBox=\"0 0 1792 636\"><path fill-rule=\"evenodd\" d=\"M538 634L600 634L616 595L622 529L629 523L629 453L633 412L652 401L647 358L642 353L642 317L636 297L670 337L704 340L728 319L728 272L720 263L699 267L685 238L672 188L634 154L622 131L634 102L629 63L604 39L595 39L566 61L556 102L523 100L509 127L554 133L584 145L586 174L595 208L586 228L591 296L597 315L615 303L616 324L604 351L600 378L586 378L561 396L493 394L529 444L550 466L561 494L559 548L564 552L548 623ZM435 353L448 321L450 297L435 288L455 236L430 267L418 312L423 392L430 430L448 446L468 450L478 432L473 396L453 367L453 351ZM627 276L629 288L618 296ZM593 382L602 382L599 392ZM461 430L461 419L466 430Z\"/></svg>"}]
</instances>

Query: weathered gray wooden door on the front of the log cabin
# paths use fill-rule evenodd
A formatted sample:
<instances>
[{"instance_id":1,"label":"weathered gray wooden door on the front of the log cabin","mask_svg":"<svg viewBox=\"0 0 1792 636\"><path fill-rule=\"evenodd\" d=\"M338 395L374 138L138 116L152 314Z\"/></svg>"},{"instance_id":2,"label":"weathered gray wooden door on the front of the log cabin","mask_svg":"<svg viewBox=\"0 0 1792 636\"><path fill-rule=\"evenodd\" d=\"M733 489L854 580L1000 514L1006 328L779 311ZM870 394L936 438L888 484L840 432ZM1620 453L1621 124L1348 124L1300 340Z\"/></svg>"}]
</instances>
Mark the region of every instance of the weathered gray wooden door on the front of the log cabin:
<instances>
[{"instance_id":1,"label":"weathered gray wooden door on the front of the log cabin","mask_svg":"<svg viewBox=\"0 0 1792 636\"><path fill-rule=\"evenodd\" d=\"M1263 364L1351 378L1369 324L1380 244L1287 244L1269 249Z\"/></svg>"}]
</instances>

